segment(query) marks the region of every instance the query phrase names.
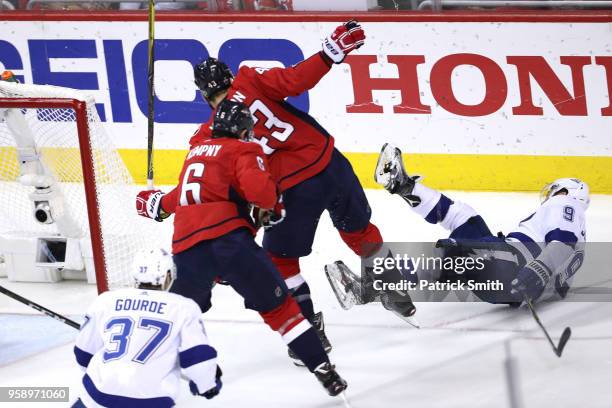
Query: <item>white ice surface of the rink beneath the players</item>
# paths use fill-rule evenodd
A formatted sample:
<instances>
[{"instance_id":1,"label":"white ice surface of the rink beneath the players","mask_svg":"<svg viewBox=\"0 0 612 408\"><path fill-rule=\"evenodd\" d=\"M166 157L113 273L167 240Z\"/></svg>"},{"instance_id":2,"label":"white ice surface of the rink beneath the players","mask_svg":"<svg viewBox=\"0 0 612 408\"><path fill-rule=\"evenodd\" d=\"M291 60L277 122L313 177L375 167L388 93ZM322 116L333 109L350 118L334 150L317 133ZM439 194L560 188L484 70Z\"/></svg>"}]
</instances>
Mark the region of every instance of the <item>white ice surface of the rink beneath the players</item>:
<instances>
[{"instance_id":1,"label":"white ice surface of the rink beneath the players","mask_svg":"<svg viewBox=\"0 0 612 408\"><path fill-rule=\"evenodd\" d=\"M373 221L386 241L427 242L445 235L441 228L412 214L401 199L384 191L367 194ZM538 205L535 193L448 195L470 203L492 231L511 230ZM611 230L612 196L594 195L587 211L587 237L590 241L612 241ZM324 216L313 253L302 261L302 271L316 307L324 312L327 333L334 345L331 358L349 383L347 394L352 407L511 407L506 375L509 357L515 362L515 384L519 404L522 403L518 406L612 406L612 304L542 305L541 317L553 337L558 338L565 326L573 330L563 357L557 358L529 312L523 309L420 303L420 330L380 305L344 311L323 274L323 265L337 259L355 269L359 267L358 259ZM75 282L24 284L1 279L0 284L73 316L83 313L95 297L93 286ZM219 351L224 387L219 397L205 401L192 397L185 384L177 401L179 407L343 406L340 399L327 396L307 370L292 365L279 336L256 313L244 310L241 299L231 289L215 288L213 305L206 315L207 330ZM54 346L0 366L0 386L69 386L71 399L76 398L81 372L72 354L74 335L62 331L72 329L41 330L41 318L34 317L36 312L0 295L0 317L7 313L23 314L15 329L22 338L32 333L34 343ZM51 319L44 323L49 324L61 325ZM0 328L0 356L3 349L9 349L9 339L15 337Z\"/></svg>"}]
</instances>

